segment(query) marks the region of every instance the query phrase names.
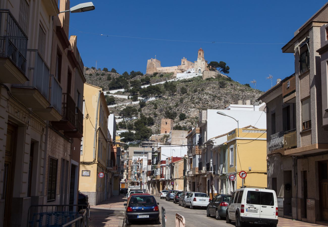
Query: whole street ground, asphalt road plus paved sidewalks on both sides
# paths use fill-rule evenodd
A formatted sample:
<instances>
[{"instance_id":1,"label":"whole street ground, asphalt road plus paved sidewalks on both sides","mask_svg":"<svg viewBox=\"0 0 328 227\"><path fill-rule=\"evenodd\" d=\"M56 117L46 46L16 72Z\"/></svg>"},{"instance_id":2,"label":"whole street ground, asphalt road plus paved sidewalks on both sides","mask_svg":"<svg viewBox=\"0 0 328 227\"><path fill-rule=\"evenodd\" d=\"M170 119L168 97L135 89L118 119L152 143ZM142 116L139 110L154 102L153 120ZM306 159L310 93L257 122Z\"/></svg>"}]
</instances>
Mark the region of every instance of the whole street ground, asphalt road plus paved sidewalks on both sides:
<instances>
[{"instance_id":1,"label":"whole street ground, asphalt road plus paved sidewalks on both sides","mask_svg":"<svg viewBox=\"0 0 328 227\"><path fill-rule=\"evenodd\" d=\"M226 226L232 227L235 225L235 222L231 224L227 224L225 220L216 220L214 217L206 217L205 209L189 209L178 206L174 204L172 201L168 202L165 199L160 199L159 196L155 196L157 202L159 202L160 208L160 218L161 218L161 208L165 208L167 221L167 227L175 226L175 214L178 213L185 217L186 226L188 227L206 227L206 226ZM123 204L126 201L126 197L123 196L114 196L99 205L91 206L90 211L90 226L91 227L122 227L126 226L125 224L125 215L124 215L124 206ZM140 221L132 223L131 227L158 227L162 226L155 225L154 221ZM261 225L248 225L248 226L257 226L261 227ZM263 225L267 226L267 225ZM280 227L319 227L321 225L310 224L301 221L293 221L287 218L279 217L278 226Z\"/></svg>"}]
</instances>

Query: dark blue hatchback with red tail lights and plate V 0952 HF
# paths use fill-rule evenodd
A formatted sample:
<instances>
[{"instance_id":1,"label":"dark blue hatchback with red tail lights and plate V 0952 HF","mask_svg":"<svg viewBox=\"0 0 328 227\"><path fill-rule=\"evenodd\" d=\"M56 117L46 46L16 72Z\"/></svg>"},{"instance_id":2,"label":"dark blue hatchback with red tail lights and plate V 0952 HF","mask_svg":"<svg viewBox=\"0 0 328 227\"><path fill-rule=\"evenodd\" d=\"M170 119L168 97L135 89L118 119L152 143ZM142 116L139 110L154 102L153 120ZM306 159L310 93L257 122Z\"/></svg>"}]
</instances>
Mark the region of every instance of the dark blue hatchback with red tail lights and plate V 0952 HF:
<instances>
[{"instance_id":1,"label":"dark blue hatchback with red tail lights and plate V 0952 HF","mask_svg":"<svg viewBox=\"0 0 328 227\"><path fill-rule=\"evenodd\" d=\"M131 196L126 206L125 217L126 225L131 225L133 220L155 220L159 224L159 203L156 202L154 196L151 195L135 195Z\"/></svg>"}]
</instances>

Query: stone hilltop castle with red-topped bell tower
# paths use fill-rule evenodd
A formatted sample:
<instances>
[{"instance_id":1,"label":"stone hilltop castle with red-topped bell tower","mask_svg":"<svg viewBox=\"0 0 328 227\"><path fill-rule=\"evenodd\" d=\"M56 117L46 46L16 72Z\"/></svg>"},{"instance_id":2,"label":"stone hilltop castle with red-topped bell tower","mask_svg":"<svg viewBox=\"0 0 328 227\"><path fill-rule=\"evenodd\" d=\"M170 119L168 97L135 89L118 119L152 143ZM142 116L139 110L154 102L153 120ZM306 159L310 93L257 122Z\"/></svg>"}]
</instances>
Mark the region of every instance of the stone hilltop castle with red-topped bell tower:
<instances>
[{"instance_id":1,"label":"stone hilltop castle with red-topped bell tower","mask_svg":"<svg viewBox=\"0 0 328 227\"><path fill-rule=\"evenodd\" d=\"M178 66L161 67L160 60L151 58L147 60L146 74L153 74L154 72L174 72L174 75L176 75L177 73L183 72L202 73L207 70L207 61L204 58L204 51L200 48L198 50L196 61L191 62L183 57L181 59L181 65Z\"/></svg>"}]
</instances>

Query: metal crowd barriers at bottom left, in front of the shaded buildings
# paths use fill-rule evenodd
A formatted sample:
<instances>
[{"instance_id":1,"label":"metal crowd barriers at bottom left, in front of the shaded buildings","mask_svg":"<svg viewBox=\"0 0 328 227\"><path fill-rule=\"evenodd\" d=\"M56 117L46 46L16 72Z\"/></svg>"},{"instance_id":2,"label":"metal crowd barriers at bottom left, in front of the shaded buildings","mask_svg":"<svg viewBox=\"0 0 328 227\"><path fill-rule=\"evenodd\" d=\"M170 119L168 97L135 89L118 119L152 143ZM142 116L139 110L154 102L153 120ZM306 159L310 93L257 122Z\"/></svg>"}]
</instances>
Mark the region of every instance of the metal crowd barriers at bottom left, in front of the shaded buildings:
<instances>
[{"instance_id":1,"label":"metal crowd barriers at bottom left, in front of the shaded buildings","mask_svg":"<svg viewBox=\"0 0 328 227\"><path fill-rule=\"evenodd\" d=\"M27 227L88 227L90 205L32 205L28 211Z\"/></svg>"}]
</instances>

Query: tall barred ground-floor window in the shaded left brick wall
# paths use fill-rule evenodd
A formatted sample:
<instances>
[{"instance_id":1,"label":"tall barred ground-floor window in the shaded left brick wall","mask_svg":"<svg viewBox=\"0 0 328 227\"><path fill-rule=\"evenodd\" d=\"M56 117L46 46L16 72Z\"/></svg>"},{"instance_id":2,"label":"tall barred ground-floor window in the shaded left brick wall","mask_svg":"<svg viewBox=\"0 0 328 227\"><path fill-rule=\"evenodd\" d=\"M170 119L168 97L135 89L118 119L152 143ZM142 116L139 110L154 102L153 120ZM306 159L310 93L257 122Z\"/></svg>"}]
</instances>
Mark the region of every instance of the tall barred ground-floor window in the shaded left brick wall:
<instances>
[{"instance_id":1,"label":"tall barred ground-floor window in the shaded left brick wall","mask_svg":"<svg viewBox=\"0 0 328 227\"><path fill-rule=\"evenodd\" d=\"M49 157L47 202L56 200L57 164L58 159Z\"/></svg>"}]
</instances>

